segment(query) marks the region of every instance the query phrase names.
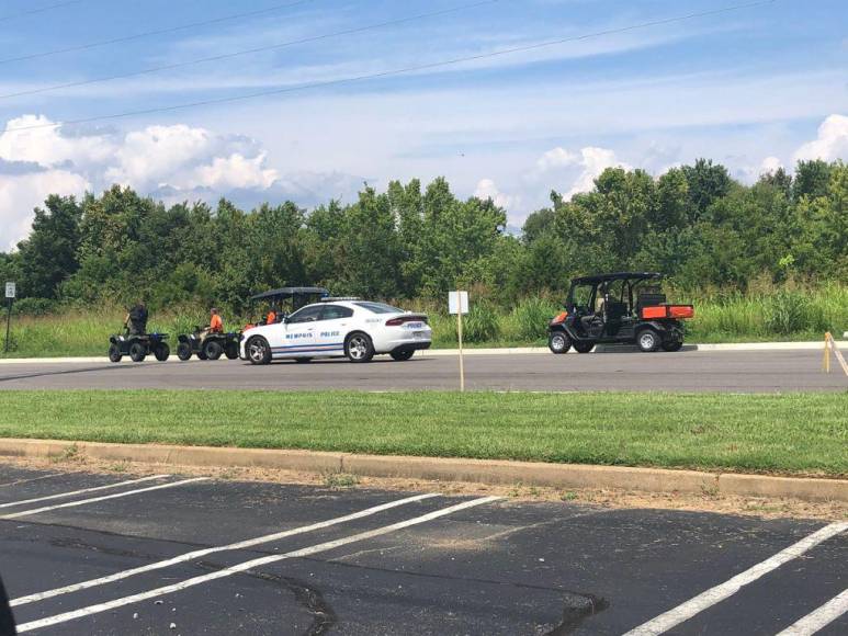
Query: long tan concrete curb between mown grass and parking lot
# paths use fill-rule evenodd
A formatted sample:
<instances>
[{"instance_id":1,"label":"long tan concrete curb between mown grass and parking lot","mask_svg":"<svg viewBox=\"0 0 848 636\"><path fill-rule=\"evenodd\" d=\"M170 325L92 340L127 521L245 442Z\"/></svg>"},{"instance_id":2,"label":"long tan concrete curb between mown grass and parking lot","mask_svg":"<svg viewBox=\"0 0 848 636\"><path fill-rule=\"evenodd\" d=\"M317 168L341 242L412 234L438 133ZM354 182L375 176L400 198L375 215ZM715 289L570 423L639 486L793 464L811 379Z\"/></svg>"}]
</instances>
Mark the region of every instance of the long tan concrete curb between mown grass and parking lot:
<instances>
[{"instance_id":1,"label":"long tan concrete curb between mown grass and parking lot","mask_svg":"<svg viewBox=\"0 0 848 636\"><path fill-rule=\"evenodd\" d=\"M613 488L644 492L738 495L848 502L846 479L770 477L624 466L0 439L0 456L3 455L42 458L81 455L94 459L182 466L261 467L306 473L350 473L363 477L405 477L498 485L520 482L524 486L557 488Z\"/></svg>"}]
</instances>

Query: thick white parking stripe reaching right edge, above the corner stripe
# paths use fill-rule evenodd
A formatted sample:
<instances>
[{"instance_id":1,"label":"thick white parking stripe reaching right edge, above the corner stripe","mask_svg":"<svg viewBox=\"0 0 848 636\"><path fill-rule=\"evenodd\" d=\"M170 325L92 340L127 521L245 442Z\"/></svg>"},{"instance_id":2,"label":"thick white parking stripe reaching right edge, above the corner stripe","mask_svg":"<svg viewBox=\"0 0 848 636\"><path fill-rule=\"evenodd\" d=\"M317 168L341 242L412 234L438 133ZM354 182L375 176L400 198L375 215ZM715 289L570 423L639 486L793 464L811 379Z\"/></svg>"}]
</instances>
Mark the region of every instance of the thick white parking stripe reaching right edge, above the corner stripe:
<instances>
[{"instance_id":1,"label":"thick white parking stripe reaching right edge, above the corner stripe","mask_svg":"<svg viewBox=\"0 0 848 636\"><path fill-rule=\"evenodd\" d=\"M693 599L690 599L677 607L660 614L656 618L652 618L647 623L631 629L624 636L656 636L658 634L664 634L676 625L679 625L683 621L688 621L696 614L703 612L715 603L732 597L744 586L756 581L764 575L767 575L768 572L779 568L783 564L800 557L802 554L817 546L823 541L827 541L828 538L836 536L846 530L848 530L848 522L845 521L826 525L810 536L806 536L798 543L792 544L788 548L779 552L774 556L767 558L765 561L748 568L744 572L736 575L732 579L720 583L714 588L710 588L709 590L701 592Z\"/></svg>"}]
</instances>

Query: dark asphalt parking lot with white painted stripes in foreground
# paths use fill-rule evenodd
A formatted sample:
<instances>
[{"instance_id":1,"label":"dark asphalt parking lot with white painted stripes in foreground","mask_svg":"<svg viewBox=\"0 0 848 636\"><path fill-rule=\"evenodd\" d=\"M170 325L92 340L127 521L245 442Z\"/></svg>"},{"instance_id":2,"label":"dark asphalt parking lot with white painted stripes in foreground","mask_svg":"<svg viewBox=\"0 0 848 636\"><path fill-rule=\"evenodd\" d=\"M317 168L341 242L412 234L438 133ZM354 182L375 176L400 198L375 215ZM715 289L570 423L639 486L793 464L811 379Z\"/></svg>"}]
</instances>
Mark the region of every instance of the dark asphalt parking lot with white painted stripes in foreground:
<instances>
[{"instance_id":1,"label":"dark asphalt parking lot with white painted stripes in foreground","mask_svg":"<svg viewBox=\"0 0 848 636\"><path fill-rule=\"evenodd\" d=\"M848 632L845 523L137 479L0 464L23 633Z\"/></svg>"}]
</instances>

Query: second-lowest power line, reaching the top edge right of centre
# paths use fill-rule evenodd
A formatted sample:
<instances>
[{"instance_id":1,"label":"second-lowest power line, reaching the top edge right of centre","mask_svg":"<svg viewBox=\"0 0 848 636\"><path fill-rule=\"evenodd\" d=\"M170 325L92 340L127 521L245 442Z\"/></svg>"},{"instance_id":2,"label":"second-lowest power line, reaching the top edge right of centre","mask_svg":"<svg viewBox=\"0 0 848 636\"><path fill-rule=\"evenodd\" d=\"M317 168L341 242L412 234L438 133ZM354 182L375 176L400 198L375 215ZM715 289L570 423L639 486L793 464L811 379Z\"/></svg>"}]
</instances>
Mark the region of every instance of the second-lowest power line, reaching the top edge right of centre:
<instances>
[{"instance_id":1,"label":"second-lowest power line, reaching the top edge right of centre","mask_svg":"<svg viewBox=\"0 0 848 636\"><path fill-rule=\"evenodd\" d=\"M142 69L142 70L135 70L135 71L125 72L125 73L104 76L104 77L100 77L100 78L93 78L93 79L88 79L88 80L80 80L80 81L68 82L68 83L64 83L64 84L54 84L54 86L42 87L42 88L37 88L37 89L30 89L30 90L26 90L26 91L19 91L16 93L7 93L4 95L0 95L0 100L7 100L7 99L10 99L10 98L20 98L20 96L23 96L23 95L33 95L33 94L38 94L38 93L46 93L46 92L50 92L50 91L57 91L57 90L60 90L60 89L76 88L76 87L82 87L82 86L100 83L100 82L108 82L108 81L113 81L113 80L116 80L116 79L126 79L126 78L129 78L129 77L137 77L137 76L142 76L142 75L149 75L149 73L154 73L154 72L159 72L159 71L162 71L162 70L173 70L176 68L183 68L183 67L186 67L186 66L193 66L193 65L203 64L203 63L206 63L206 61L221 61L223 59L231 59L234 57L240 57L240 56L244 56L244 55L251 55L251 54L255 54L255 53L263 53L263 52L268 52L268 50L275 50L275 49L280 49L280 48L285 48L287 46L293 46L293 45L296 45L296 44L306 44L306 43L309 43L309 42L318 42L320 39L328 39L330 37L338 37L340 35L352 35L352 34L355 34L355 33L362 33L364 31L372 31L374 29L381 29L383 26L394 26L394 25L397 25L397 24L403 24L405 22L412 22L412 21L422 20L422 19L426 19L426 18L434 18L434 16L438 16L438 15L446 15L449 13L455 13L457 11L463 11L463 10L466 10L466 9L475 9L475 8L482 7L484 4L494 4L495 2L500 2L500 1L501 0L480 0L478 2L472 2L470 4L461 4L459 7L453 7L451 9L442 9L442 10L439 10L439 11L431 11L429 13L419 13L417 15L409 15L407 18L398 18L396 20L387 20L385 22L378 22L376 24L369 24L369 25L365 25L365 26L358 26L358 27L354 27L354 29L346 29L344 31L336 31L333 33L324 33L321 35L313 35L310 37L303 37L301 39L291 39L289 42L282 42L282 43L279 43L279 44L270 44L270 45L267 45L267 46L258 46L256 48L246 48L246 49L242 49L242 50L236 50L236 52L233 52L233 53L224 53L224 54L221 54L221 55L213 55L213 56L210 56L210 57L201 57L201 58L197 58L197 59L190 59L190 60L186 60L186 61L178 61L178 63L174 63L174 64L154 66L154 67L145 68L145 69Z\"/></svg>"}]
</instances>

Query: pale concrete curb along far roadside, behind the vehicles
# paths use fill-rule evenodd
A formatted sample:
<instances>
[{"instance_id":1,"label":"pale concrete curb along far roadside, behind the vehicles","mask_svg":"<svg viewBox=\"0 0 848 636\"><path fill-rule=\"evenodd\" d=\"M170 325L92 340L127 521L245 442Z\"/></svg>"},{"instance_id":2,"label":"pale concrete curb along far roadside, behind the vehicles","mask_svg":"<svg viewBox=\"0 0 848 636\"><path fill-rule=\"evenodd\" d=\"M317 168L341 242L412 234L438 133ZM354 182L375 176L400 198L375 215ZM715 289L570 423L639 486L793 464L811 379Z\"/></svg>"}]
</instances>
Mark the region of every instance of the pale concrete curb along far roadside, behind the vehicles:
<instances>
[{"instance_id":1,"label":"pale concrete curb along far roadside, behind the vehicles","mask_svg":"<svg viewBox=\"0 0 848 636\"><path fill-rule=\"evenodd\" d=\"M848 351L848 340L837 340L837 347L844 351ZM683 347L683 351L811 351L811 350L824 350L824 341L822 342L734 342L734 343L720 343L720 344L687 344ZM626 353L638 351L636 345L626 344L599 344L595 351L597 353ZM546 347L504 347L496 349L465 349L465 355L528 355L528 354L543 354L550 353ZM569 353L576 353L572 350ZM459 355L456 349L429 349L423 352L419 352L421 356L442 356L442 355ZM150 364L161 364L150 359L147 361ZM181 361L171 355L168 359L169 363L180 363ZM200 361L193 360L192 363L196 364ZM218 362L230 362L225 357L218 360ZM77 364L112 364L106 360L105 355L99 357L8 357L0 360L0 364L64 364L64 363L77 363ZM120 364L137 364L134 362L122 362ZM182 363L185 364L185 363Z\"/></svg>"}]
</instances>

